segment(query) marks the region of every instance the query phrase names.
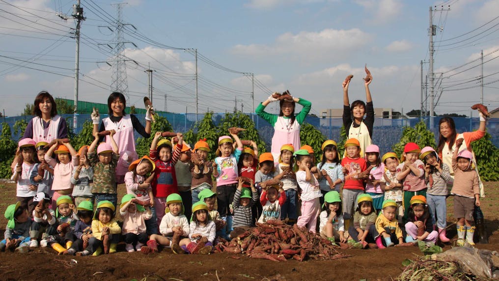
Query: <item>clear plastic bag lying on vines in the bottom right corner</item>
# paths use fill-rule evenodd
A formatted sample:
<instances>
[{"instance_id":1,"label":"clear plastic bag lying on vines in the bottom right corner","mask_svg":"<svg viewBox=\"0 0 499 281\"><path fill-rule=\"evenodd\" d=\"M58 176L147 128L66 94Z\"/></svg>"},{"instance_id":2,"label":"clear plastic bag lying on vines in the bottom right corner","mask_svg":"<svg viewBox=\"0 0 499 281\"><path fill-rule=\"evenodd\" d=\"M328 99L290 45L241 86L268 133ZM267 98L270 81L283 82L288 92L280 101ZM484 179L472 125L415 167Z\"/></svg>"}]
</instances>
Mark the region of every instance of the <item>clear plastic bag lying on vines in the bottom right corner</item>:
<instances>
[{"instance_id":1,"label":"clear plastic bag lying on vines in the bottom right corner","mask_svg":"<svg viewBox=\"0 0 499 281\"><path fill-rule=\"evenodd\" d=\"M456 247L441 254L432 255L433 259L456 262L466 274L478 278L493 278L494 263L492 257L499 255L496 251L479 250L468 247Z\"/></svg>"}]
</instances>

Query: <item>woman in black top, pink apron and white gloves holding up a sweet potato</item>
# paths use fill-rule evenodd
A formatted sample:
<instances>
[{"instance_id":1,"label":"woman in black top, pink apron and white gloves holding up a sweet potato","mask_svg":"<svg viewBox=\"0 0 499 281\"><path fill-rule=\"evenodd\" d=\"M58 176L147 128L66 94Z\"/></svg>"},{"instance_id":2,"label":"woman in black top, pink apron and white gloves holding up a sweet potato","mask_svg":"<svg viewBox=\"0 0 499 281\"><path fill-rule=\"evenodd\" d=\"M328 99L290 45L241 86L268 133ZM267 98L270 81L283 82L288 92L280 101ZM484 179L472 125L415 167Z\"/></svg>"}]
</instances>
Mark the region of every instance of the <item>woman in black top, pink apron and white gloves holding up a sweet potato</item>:
<instances>
[{"instance_id":1,"label":"woman in black top, pink apron and white gloves holding up a sweet potato","mask_svg":"<svg viewBox=\"0 0 499 281\"><path fill-rule=\"evenodd\" d=\"M128 172L128 166L139 157L135 151L134 130L145 138L151 136L151 113L148 109L146 113L146 127L142 126L139 119L133 114L127 115L125 112L125 96L120 92L113 92L107 98L107 107L109 117L102 119L99 127L99 115L92 113L92 123L94 132L104 130L115 130L113 138L118 144L120 158L116 166L116 183L125 182L125 174ZM111 144L111 139L106 136L106 142Z\"/></svg>"}]
</instances>

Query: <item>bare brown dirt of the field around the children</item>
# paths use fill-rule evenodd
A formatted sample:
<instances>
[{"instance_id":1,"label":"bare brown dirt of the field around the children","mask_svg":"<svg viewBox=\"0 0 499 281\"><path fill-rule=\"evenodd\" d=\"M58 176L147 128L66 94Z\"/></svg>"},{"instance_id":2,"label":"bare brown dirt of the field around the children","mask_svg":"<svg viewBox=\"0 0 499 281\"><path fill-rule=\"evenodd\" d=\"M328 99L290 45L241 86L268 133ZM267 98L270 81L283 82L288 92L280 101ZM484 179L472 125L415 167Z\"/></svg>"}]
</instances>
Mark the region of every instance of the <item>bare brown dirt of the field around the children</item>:
<instances>
[{"instance_id":1,"label":"bare brown dirt of the field around the children","mask_svg":"<svg viewBox=\"0 0 499 281\"><path fill-rule=\"evenodd\" d=\"M480 249L499 251L499 182L485 184L487 197L482 199L489 245ZM124 187L119 188L121 192ZM0 210L14 203L15 185L0 182ZM121 200L121 194L119 195ZM448 200L448 223L452 217L453 200ZM0 216L0 226L6 220ZM449 236L455 236L454 227ZM0 234L3 237L3 233ZM121 251L124 251L121 245ZM120 248L119 248L120 249ZM445 245L444 250L451 249ZM333 261L271 262L254 260L233 254L174 255L169 249L153 255L140 252L118 252L99 257L56 256L47 248L37 248L27 254L0 253L0 280L392 280L403 270L402 261L421 255L417 247L393 247L381 250L341 250L352 255ZM71 260L77 263L71 264Z\"/></svg>"}]
</instances>

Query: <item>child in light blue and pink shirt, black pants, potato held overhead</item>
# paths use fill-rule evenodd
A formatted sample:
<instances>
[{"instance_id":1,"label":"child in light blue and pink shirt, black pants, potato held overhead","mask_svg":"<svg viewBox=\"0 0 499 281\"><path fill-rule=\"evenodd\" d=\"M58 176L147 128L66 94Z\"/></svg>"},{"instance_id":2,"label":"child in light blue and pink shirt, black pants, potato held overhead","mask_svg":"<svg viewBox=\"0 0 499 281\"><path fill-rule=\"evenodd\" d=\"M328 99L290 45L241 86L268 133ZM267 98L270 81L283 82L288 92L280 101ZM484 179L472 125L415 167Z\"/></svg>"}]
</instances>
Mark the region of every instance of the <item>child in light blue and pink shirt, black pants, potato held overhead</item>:
<instances>
[{"instance_id":1,"label":"child in light blue and pink shirt, black pants, potato held overhead","mask_svg":"<svg viewBox=\"0 0 499 281\"><path fill-rule=\"evenodd\" d=\"M217 203L218 211L222 219L227 222L227 233L232 231L232 210L230 204L234 201L238 178L238 161L243 151L243 143L237 134L231 136L236 141L238 147L236 150L232 146L230 136L221 136L219 138L219 148L215 152L217 158L215 163L217 169L213 175L217 178ZM233 153L234 152L234 153Z\"/></svg>"}]
</instances>

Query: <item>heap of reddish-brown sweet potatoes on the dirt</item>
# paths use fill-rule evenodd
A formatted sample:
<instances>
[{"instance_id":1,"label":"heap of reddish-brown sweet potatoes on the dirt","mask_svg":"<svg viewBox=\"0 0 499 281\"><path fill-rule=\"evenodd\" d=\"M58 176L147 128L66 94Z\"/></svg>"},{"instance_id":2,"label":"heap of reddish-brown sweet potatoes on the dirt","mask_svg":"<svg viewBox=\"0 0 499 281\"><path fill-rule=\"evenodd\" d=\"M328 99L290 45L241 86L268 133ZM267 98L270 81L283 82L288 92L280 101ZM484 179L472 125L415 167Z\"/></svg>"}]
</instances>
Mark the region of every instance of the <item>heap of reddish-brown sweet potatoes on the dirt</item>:
<instances>
[{"instance_id":1,"label":"heap of reddish-brown sweet potatoes on the dirt","mask_svg":"<svg viewBox=\"0 0 499 281\"><path fill-rule=\"evenodd\" d=\"M289 226L282 221L267 221L256 225L230 242L219 243L215 252L247 254L253 259L274 262L285 262L287 259L302 262L306 259L335 260L349 257L339 253L339 247L330 241L296 224Z\"/></svg>"}]
</instances>

